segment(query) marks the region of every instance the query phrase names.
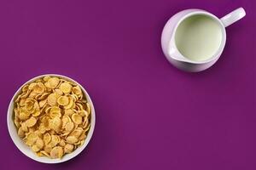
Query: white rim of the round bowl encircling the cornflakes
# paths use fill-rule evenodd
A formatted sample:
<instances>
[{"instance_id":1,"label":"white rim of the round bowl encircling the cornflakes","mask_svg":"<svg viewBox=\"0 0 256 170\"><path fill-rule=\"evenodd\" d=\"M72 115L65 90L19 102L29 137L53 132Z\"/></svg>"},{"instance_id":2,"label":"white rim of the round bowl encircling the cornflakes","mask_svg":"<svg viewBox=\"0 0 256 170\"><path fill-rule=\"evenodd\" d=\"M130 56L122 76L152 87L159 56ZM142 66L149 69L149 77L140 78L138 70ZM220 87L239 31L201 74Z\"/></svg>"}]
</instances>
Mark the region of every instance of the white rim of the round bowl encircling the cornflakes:
<instances>
[{"instance_id":1,"label":"white rim of the round bowl encircling the cornflakes","mask_svg":"<svg viewBox=\"0 0 256 170\"><path fill-rule=\"evenodd\" d=\"M30 83L30 82L34 82L35 80L39 79L39 78L42 78L42 77L46 77L46 76L49 76L49 77L61 77L61 78L64 78L64 79L67 79L68 81L70 82L74 82L76 84L79 85L79 87L82 89L83 93L85 94L85 97L87 99L87 101L89 101L90 103L90 106L91 106L91 117L90 117L90 130L89 130L89 133L87 135L87 138L85 139L84 141L84 144L82 146L79 146L79 148L77 148L76 150L74 150L72 153L70 154L67 154L66 156L63 156L61 159L50 159L48 157L39 157L39 156L36 156L34 153L33 153L33 156L32 155L29 155L27 153L26 150L24 150L24 148L22 146L20 146L20 144L18 144L19 142L18 141L15 141L15 136L18 136L18 133L15 132L13 133L11 131L11 126L15 126L15 123L13 121L13 109L12 109L12 106L14 104L14 100L16 98L16 96L18 94L20 94L20 90L22 87L24 87L27 83ZM12 110L12 111L10 111ZM11 121L10 121L11 119ZM10 123L13 123L13 125L11 125ZM20 150L21 153L23 153L25 156L31 158L32 160L34 161L38 161L38 162L41 162L41 163L49 163L49 164L54 164L54 163L61 163L61 162L64 162L64 161L69 161L71 159L73 159L75 156L78 156L83 150L84 148L89 144L90 142L90 139L94 133L94 129L95 129L95 124L96 124L96 111L95 111L95 108L94 108L94 105L93 105L93 102L90 98L90 95L87 93L87 91L85 90L85 88L77 81L73 80L73 78L71 77L67 77L67 76L63 76L63 75L60 75L60 74L43 74L43 75L39 75L37 77L32 77L31 79L29 79L28 81L26 81L25 83L23 83L20 88L18 88L15 92L15 94L13 95L12 99L10 100L9 102L9 107L8 107L8 111L7 111L7 126L8 126L8 131L9 131L9 136L11 137L12 141L14 142L15 146ZM20 137L18 136L18 138L20 139ZM20 139L21 142L23 142L21 139ZM32 150L31 150L32 151Z\"/></svg>"}]
</instances>

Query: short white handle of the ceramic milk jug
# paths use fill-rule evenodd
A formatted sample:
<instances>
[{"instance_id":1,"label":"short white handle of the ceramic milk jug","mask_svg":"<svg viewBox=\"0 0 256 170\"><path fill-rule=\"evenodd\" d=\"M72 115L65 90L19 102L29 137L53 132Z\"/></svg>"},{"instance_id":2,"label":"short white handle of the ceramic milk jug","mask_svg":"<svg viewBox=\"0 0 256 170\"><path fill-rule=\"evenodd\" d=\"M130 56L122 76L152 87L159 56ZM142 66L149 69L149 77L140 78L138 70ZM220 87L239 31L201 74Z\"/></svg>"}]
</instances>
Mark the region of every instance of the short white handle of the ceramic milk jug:
<instances>
[{"instance_id":1,"label":"short white handle of the ceramic milk jug","mask_svg":"<svg viewBox=\"0 0 256 170\"><path fill-rule=\"evenodd\" d=\"M225 27L230 26L237 20L240 20L246 15L246 12L244 8L236 8L234 11L232 11L230 14L224 15L220 20L224 24Z\"/></svg>"}]
</instances>

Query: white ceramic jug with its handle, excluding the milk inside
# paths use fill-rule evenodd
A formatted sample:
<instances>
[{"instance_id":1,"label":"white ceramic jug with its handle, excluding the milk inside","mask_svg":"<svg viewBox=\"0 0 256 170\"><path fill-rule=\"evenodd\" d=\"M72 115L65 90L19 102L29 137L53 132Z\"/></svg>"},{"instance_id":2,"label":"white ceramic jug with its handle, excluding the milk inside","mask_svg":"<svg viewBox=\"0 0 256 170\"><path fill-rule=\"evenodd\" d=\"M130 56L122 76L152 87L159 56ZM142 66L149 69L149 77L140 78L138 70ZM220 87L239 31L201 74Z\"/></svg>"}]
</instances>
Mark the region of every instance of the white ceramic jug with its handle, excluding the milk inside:
<instances>
[{"instance_id":1,"label":"white ceramic jug with its handle, excluding the milk inside","mask_svg":"<svg viewBox=\"0 0 256 170\"><path fill-rule=\"evenodd\" d=\"M210 59L203 60L203 61L195 61L186 58L177 50L177 46L175 43L175 34L177 31L177 26L187 19L189 16L195 14L205 14L212 18L212 20L216 20L221 27L222 30L222 41L216 53L212 55ZM211 67L220 57L224 50L224 45L226 42L226 31L225 27L230 26L237 20L240 20L242 17L246 15L245 10L243 8L237 8L230 14L225 15L223 18L218 19L215 15L201 9L192 8L192 9L185 9L180 11L179 13L172 16L166 22L166 26L164 27L161 35L161 47L163 49L164 54L166 55L166 59L168 59L172 65L176 66L178 69L183 71L204 71L207 68Z\"/></svg>"}]
</instances>

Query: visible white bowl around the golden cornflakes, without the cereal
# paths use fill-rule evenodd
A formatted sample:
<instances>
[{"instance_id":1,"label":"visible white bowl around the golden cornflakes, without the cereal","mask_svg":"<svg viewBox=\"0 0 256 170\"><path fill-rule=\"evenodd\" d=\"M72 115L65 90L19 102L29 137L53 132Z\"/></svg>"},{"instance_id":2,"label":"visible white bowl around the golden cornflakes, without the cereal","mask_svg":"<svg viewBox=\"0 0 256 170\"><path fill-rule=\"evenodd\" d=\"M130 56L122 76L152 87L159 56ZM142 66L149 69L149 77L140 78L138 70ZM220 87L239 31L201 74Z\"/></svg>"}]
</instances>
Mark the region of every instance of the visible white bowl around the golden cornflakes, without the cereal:
<instances>
[{"instance_id":1,"label":"visible white bowl around the golden cornflakes, without the cereal","mask_svg":"<svg viewBox=\"0 0 256 170\"><path fill-rule=\"evenodd\" d=\"M36 156L35 153L30 149L29 146L27 146L24 141L22 139L20 139L20 137L18 136L16 127L15 127L15 123L13 120L13 114L14 114L14 104L15 104L15 99L17 97L18 94L20 94L21 88L29 83L29 82L34 82L35 80L37 80L38 78L42 78L45 76L50 76L50 77L61 77L63 79L66 79L70 82L75 82L79 85L79 87L82 89L82 91L85 94L86 99L89 101L90 105L91 105L91 116L90 116L90 130L89 133L87 134L87 138L85 139L85 142L83 145L79 146L76 150L74 150L72 153L67 154L65 156L63 156L61 159L50 159L48 157L39 157ZM84 148L87 146L87 144L90 141L90 138L92 136L92 133L94 131L94 127L95 127L95 122L96 122L96 116L95 116L95 109L93 106L93 103L90 99L89 94L85 91L85 89L79 84L79 82L74 81L72 78L69 77L65 77L65 76L61 76L61 75L56 75L56 74L47 74L47 75L41 75L38 77L34 77L31 80L27 81L26 83L24 83L15 93L14 97L11 99L10 103L9 103L9 108L8 108L8 113L7 113L7 125L8 125L8 130L9 130L9 135L11 137L11 139L14 141L15 145L17 146L17 148L26 156L30 157L32 160L35 161L39 161L39 162L43 162L43 163L61 163L63 161L68 161L70 159L72 159L75 156L78 156L79 153L84 150Z\"/></svg>"}]
</instances>

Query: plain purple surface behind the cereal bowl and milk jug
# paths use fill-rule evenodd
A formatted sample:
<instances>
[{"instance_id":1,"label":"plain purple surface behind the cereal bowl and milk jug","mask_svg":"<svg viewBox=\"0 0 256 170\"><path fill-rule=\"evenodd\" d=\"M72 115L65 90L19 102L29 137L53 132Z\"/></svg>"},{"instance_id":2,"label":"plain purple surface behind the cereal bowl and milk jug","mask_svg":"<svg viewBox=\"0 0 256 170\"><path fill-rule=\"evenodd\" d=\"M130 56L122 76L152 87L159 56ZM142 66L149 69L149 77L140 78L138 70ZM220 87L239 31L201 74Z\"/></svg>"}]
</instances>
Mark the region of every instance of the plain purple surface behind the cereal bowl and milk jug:
<instances>
[{"instance_id":1,"label":"plain purple surface behind the cereal bowl and milk jug","mask_svg":"<svg viewBox=\"0 0 256 170\"><path fill-rule=\"evenodd\" d=\"M218 17L243 7L207 71L168 63L160 33L173 14L203 8ZM256 169L253 0L94 0L0 3L0 169ZM90 93L96 129L72 161L32 161L9 138L9 100L32 77L73 77Z\"/></svg>"}]
</instances>

